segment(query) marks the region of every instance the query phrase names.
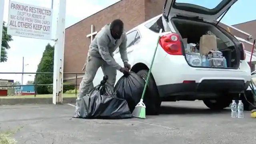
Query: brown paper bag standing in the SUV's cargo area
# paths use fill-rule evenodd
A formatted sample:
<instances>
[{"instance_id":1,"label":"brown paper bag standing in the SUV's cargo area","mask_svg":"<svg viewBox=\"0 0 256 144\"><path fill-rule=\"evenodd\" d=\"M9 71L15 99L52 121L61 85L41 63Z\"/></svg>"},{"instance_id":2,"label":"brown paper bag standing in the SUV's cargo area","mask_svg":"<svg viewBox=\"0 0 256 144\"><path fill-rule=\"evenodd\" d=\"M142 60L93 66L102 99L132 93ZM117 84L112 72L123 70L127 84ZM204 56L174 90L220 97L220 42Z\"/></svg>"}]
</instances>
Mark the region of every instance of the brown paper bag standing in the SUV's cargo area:
<instances>
[{"instance_id":1,"label":"brown paper bag standing in the SUV's cargo area","mask_svg":"<svg viewBox=\"0 0 256 144\"><path fill-rule=\"evenodd\" d=\"M207 55L210 50L218 50L215 35L202 35L200 38L199 52L202 55Z\"/></svg>"}]
</instances>

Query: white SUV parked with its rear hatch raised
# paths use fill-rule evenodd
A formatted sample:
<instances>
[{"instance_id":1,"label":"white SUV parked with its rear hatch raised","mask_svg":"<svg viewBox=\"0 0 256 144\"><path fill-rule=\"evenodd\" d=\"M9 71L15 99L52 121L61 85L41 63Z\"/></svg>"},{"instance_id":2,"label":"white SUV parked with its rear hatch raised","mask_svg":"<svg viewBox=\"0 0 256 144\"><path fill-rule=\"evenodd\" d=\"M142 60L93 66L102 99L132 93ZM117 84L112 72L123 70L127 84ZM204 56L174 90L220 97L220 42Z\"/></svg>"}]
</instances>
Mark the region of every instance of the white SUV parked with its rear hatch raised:
<instances>
[{"instance_id":1,"label":"white SUV parked with its rear hatch raised","mask_svg":"<svg viewBox=\"0 0 256 144\"><path fill-rule=\"evenodd\" d=\"M157 111L161 101L203 100L211 109L223 109L248 88L251 71L245 61L243 44L216 25L217 18L234 2L236 0L222 0L215 8L208 9L166 0L163 14L127 32L131 71L146 79L158 33L163 30L145 98L146 108ZM188 43L196 44L209 31L216 36L218 50L226 58L226 67L192 66L188 62L182 40L187 38ZM122 65L118 50L114 58ZM94 85L102 76L102 70L98 70ZM118 72L117 80L121 76Z\"/></svg>"}]
</instances>

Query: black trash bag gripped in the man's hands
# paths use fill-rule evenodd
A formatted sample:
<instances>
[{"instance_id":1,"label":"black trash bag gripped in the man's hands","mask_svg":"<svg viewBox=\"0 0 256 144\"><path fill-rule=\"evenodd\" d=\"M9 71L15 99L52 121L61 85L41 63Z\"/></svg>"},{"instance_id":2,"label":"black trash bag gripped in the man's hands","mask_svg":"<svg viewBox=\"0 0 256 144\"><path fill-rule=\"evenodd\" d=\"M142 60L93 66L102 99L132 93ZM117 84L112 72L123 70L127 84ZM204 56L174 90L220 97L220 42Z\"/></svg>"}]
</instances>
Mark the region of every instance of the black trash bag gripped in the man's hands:
<instances>
[{"instance_id":1,"label":"black trash bag gripped in the man's hands","mask_svg":"<svg viewBox=\"0 0 256 144\"><path fill-rule=\"evenodd\" d=\"M122 76L114 88L118 98L128 102L130 111L133 112L135 106L140 102L145 82L134 72L129 72Z\"/></svg>"}]
</instances>

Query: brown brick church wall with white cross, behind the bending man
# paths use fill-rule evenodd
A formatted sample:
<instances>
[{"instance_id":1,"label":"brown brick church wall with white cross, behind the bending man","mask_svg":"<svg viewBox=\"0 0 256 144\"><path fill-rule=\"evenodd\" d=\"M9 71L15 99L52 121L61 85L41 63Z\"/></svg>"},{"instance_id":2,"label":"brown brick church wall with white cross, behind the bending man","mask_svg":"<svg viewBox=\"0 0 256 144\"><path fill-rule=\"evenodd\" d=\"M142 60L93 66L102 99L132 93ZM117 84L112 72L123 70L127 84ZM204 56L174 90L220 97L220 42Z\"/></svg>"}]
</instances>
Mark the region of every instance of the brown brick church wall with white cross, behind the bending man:
<instances>
[{"instance_id":1,"label":"brown brick church wall with white cross, behind the bending man","mask_svg":"<svg viewBox=\"0 0 256 144\"><path fill-rule=\"evenodd\" d=\"M144 0L122 0L101 10L100 12L66 28L64 72L82 72L90 44L90 38L86 38L91 32L91 25L94 30L101 28L120 18L124 22L126 30L130 30L145 21ZM64 78L70 75L64 75Z\"/></svg>"}]
</instances>

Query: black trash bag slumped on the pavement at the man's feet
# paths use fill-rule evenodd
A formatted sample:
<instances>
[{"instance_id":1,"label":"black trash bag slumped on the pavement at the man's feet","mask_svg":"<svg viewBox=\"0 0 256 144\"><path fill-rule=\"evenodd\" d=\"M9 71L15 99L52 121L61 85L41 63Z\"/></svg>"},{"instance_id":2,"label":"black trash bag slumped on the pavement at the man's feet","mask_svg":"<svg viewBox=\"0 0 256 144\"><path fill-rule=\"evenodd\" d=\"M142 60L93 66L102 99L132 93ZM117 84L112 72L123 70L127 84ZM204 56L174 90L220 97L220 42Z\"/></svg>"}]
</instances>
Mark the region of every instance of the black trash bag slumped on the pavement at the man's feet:
<instances>
[{"instance_id":1,"label":"black trash bag slumped on the pavement at the man's feet","mask_svg":"<svg viewBox=\"0 0 256 144\"><path fill-rule=\"evenodd\" d=\"M126 100L117 98L114 87L106 82L107 76L86 96L76 100L74 118L123 119L132 118Z\"/></svg>"}]
</instances>

